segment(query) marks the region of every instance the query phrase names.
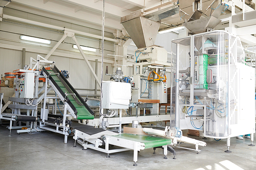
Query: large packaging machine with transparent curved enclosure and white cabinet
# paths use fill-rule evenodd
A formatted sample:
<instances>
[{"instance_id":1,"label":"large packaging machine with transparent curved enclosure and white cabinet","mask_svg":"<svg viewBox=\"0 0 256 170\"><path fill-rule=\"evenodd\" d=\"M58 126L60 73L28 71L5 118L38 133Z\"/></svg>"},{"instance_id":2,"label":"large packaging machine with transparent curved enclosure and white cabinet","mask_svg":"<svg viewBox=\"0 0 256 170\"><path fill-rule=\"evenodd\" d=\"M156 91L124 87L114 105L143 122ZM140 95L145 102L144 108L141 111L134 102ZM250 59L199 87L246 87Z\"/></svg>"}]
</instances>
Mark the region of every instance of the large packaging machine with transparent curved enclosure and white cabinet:
<instances>
[{"instance_id":1,"label":"large packaging machine with transparent curved enclosure and white cabinet","mask_svg":"<svg viewBox=\"0 0 256 170\"><path fill-rule=\"evenodd\" d=\"M255 133L255 68L246 63L240 38L211 31L173 43L177 60L171 99L176 105L171 124L218 139Z\"/></svg>"}]
</instances>

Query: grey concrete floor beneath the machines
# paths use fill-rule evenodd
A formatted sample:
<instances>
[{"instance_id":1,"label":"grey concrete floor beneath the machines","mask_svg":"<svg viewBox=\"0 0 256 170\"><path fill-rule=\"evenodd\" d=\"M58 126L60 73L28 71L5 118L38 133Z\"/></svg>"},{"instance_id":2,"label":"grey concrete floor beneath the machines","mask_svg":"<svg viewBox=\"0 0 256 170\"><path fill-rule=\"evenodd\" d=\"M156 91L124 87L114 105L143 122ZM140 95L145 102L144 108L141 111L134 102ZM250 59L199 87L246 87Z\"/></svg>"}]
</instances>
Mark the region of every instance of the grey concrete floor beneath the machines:
<instances>
[{"instance_id":1,"label":"grey concrete floor beneath the machines","mask_svg":"<svg viewBox=\"0 0 256 170\"><path fill-rule=\"evenodd\" d=\"M53 132L23 133L17 135L15 130L9 137L9 131L0 126L0 169L256 169L256 147L249 147L250 139L231 138L230 150L225 153L226 139L204 140L206 147L200 147L200 154L195 151L178 149L177 159L168 152L168 159L163 159L162 150L142 150L138 154L138 166L133 166L133 151L106 154L91 149L82 150L69 137L63 143L64 136ZM256 139L254 135L254 141ZM256 144L256 141L255 141ZM181 144L181 147L189 145ZM191 146L192 147L192 146Z\"/></svg>"}]
</instances>

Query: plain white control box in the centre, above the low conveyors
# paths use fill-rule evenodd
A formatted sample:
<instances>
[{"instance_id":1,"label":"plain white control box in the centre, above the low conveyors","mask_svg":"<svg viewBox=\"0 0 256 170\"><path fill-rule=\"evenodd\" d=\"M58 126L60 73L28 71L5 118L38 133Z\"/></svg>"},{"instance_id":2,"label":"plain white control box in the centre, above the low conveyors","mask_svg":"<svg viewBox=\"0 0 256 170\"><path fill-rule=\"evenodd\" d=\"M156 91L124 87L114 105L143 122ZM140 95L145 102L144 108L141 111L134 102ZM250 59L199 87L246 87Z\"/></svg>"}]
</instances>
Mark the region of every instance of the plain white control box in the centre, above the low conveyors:
<instances>
[{"instance_id":1,"label":"plain white control box in the centre, above the low conveyors","mask_svg":"<svg viewBox=\"0 0 256 170\"><path fill-rule=\"evenodd\" d=\"M102 84L103 109L128 109L131 100L131 84L104 81Z\"/></svg>"}]
</instances>

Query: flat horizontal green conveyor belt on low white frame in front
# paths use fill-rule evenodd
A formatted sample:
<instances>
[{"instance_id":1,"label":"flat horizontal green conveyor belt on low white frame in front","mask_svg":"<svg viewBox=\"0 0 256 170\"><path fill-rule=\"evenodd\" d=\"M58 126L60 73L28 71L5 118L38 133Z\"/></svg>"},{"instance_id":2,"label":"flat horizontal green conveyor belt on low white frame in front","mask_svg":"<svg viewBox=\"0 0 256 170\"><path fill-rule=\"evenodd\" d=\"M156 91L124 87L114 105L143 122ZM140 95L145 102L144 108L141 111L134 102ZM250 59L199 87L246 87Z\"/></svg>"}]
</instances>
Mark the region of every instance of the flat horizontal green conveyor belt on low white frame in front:
<instances>
[{"instance_id":1,"label":"flat horizontal green conveyor belt on low white frame in front","mask_svg":"<svg viewBox=\"0 0 256 170\"><path fill-rule=\"evenodd\" d=\"M163 145L172 143L171 139L149 136L149 135L133 135L133 134L122 133L122 134L119 134L119 135L115 135L114 137L144 143L145 144L145 149L161 147Z\"/></svg>"}]
</instances>

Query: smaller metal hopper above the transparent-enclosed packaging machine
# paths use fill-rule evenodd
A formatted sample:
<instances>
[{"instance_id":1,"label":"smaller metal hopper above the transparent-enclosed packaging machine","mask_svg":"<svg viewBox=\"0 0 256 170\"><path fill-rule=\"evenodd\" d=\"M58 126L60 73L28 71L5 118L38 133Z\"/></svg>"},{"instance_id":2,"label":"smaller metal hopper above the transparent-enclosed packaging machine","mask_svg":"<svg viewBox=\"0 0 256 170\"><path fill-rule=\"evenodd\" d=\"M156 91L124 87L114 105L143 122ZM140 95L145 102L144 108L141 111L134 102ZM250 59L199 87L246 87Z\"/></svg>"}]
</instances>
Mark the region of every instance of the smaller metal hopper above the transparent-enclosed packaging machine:
<instances>
[{"instance_id":1,"label":"smaller metal hopper above the transparent-enclosed packaging machine","mask_svg":"<svg viewBox=\"0 0 256 170\"><path fill-rule=\"evenodd\" d=\"M206 18L183 23L183 26L185 26L191 32L199 34L206 32L208 28L214 29L220 22L220 19L214 16L208 16Z\"/></svg>"}]
</instances>

